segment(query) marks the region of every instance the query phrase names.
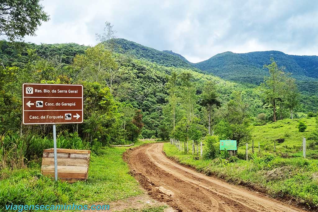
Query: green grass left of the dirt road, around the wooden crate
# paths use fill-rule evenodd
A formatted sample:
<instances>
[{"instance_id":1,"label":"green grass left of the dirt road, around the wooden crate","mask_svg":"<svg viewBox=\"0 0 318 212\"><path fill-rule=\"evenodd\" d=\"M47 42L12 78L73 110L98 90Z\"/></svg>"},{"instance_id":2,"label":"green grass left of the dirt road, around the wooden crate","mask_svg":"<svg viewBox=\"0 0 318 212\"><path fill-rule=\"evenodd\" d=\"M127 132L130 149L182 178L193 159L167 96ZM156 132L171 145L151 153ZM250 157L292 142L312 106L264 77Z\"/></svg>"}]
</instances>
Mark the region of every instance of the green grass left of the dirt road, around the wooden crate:
<instances>
[{"instance_id":1,"label":"green grass left of the dirt road, around the wooden crate","mask_svg":"<svg viewBox=\"0 0 318 212\"><path fill-rule=\"evenodd\" d=\"M135 143L140 146L150 141ZM0 211L6 204L90 204L121 200L142 193L138 182L129 174L122 159L130 147L102 149L102 154L91 155L86 182L55 183L44 177L40 165L18 170L1 170ZM160 211L160 210L153 210Z\"/></svg>"}]
</instances>

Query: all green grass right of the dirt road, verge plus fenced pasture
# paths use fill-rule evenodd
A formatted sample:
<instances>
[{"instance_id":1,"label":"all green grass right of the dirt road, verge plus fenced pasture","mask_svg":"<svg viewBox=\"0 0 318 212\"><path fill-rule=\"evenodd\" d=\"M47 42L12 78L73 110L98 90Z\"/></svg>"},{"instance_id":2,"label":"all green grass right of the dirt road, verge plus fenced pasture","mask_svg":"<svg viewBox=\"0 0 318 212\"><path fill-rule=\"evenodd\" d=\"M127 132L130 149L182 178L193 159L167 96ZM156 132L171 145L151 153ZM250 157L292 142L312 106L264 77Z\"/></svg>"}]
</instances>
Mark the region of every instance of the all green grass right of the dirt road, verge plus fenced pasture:
<instances>
[{"instance_id":1,"label":"all green grass right of the dirt road, verge plus fenced pasture","mask_svg":"<svg viewBox=\"0 0 318 212\"><path fill-rule=\"evenodd\" d=\"M198 171L214 175L233 184L248 185L252 188L264 191L273 197L294 197L297 202L308 206L318 204L318 160L302 157L302 137L308 138L315 127L315 118L301 119L305 121L308 128L305 132L298 132L299 120L281 120L277 123L269 123L264 126L256 126L252 131L255 147L260 142L261 152L251 155L252 149L249 145L249 161L242 160L245 157L245 144L239 147L238 153L241 159L205 160L192 155L189 142L189 153L165 143L163 150L165 154L174 160L192 166ZM275 139L284 138L281 144ZM182 144L183 146L183 144ZM203 149L206 145L203 146ZM265 152L266 148L266 152ZM199 147L200 149L200 147ZM255 148L255 152L257 152ZM200 152L200 150L199 150ZM308 150L309 156L314 156L316 150Z\"/></svg>"}]
</instances>

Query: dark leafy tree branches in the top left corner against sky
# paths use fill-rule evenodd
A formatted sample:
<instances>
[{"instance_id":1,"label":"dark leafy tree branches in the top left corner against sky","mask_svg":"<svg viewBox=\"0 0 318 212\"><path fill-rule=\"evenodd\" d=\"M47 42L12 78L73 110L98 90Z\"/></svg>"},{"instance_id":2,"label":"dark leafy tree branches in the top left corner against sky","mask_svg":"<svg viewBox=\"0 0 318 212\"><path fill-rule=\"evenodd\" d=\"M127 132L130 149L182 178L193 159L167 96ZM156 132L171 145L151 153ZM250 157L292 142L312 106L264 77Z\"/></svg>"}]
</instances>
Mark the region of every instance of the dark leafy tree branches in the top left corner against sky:
<instances>
[{"instance_id":1,"label":"dark leafy tree branches in the top left corner against sky","mask_svg":"<svg viewBox=\"0 0 318 212\"><path fill-rule=\"evenodd\" d=\"M0 2L0 37L10 41L35 35L41 21L48 21L39 0L2 0Z\"/></svg>"}]
</instances>

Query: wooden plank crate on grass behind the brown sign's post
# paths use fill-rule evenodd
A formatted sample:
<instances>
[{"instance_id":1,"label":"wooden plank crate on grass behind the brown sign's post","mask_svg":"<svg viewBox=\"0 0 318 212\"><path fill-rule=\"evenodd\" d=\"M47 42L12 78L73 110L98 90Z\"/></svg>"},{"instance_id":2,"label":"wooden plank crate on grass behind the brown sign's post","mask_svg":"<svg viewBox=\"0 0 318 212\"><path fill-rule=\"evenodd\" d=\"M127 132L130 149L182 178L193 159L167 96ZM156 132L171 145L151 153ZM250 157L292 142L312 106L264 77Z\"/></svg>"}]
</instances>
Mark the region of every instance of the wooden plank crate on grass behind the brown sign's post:
<instances>
[{"instance_id":1,"label":"wooden plank crate on grass behind the brown sign's post","mask_svg":"<svg viewBox=\"0 0 318 212\"><path fill-rule=\"evenodd\" d=\"M73 183L85 181L88 177L90 150L57 149L58 178L61 181ZM41 172L48 177L54 177L54 149L44 149Z\"/></svg>"}]
</instances>

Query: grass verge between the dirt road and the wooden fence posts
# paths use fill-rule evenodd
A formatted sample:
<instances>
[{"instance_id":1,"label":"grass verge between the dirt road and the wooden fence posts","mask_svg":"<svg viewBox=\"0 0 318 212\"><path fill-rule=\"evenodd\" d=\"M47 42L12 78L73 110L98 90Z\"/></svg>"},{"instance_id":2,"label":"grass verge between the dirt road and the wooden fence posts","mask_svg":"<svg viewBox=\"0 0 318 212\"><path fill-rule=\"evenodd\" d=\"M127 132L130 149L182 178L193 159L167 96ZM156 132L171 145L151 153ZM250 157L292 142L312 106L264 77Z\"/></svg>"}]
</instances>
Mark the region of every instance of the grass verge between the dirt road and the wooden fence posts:
<instances>
[{"instance_id":1,"label":"grass verge between the dirt road and the wooden fence posts","mask_svg":"<svg viewBox=\"0 0 318 212\"><path fill-rule=\"evenodd\" d=\"M237 159L196 160L192 154L178 151L174 145L165 143L165 154L175 161L198 171L214 175L237 185L261 190L273 197L293 197L297 203L308 207L318 204L318 161L300 157L281 158L267 155L245 161Z\"/></svg>"}]
</instances>

